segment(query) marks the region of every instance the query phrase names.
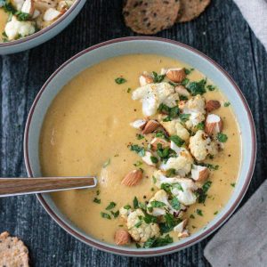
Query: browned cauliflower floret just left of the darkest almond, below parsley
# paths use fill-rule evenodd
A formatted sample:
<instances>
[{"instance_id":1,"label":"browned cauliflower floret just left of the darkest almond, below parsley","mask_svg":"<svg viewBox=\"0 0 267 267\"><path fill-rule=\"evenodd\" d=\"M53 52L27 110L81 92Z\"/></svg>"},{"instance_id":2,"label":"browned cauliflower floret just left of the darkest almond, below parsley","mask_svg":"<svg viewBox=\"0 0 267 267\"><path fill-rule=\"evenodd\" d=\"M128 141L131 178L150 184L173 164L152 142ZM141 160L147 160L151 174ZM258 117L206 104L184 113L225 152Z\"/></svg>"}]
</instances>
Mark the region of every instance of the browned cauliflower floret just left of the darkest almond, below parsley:
<instances>
[{"instance_id":1,"label":"browned cauliflower floret just left of the darkest almond, below parsley","mask_svg":"<svg viewBox=\"0 0 267 267\"><path fill-rule=\"evenodd\" d=\"M189 101L181 101L179 108L182 109L183 114L190 114L189 120L185 123L189 129L205 120L206 101L200 94L192 97Z\"/></svg>"}]
</instances>

